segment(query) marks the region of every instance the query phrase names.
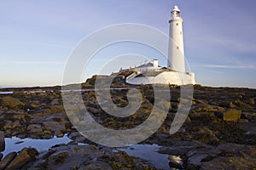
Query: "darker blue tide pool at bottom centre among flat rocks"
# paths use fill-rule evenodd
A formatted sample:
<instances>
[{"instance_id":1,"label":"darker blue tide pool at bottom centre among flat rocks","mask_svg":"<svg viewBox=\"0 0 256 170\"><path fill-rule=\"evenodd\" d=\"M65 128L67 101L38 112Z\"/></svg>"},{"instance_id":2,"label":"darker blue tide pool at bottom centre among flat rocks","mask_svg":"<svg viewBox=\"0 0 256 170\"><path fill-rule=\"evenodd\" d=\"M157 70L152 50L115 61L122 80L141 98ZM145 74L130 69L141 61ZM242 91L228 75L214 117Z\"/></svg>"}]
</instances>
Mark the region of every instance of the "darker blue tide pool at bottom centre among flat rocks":
<instances>
[{"instance_id":1,"label":"darker blue tide pool at bottom centre among flat rocks","mask_svg":"<svg viewBox=\"0 0 256 170\"><path fill-rule=\"evenodd\" d=\"M160 154L158 144L134 144L118 150L125 151L129 156L135 156L147 160L161 169L170 169L168 155Z\"/></svg>"}]
</instances>

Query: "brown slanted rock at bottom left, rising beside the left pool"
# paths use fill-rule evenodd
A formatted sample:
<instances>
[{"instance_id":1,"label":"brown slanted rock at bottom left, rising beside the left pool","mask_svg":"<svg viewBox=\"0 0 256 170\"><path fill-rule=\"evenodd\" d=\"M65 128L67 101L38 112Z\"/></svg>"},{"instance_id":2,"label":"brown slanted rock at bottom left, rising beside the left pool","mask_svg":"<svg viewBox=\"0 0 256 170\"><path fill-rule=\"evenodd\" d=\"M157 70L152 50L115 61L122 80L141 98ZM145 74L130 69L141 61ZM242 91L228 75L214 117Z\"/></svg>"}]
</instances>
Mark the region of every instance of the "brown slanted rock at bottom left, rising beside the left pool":
<instances>
[{"instance_id":1,"label":"brown slanted rock at bottom left, rising beside the left pool","mask_svg":"<svg viewBox=\"0 0 256 170\"><path fill-rule=\"evenodd\" d=\"M27 162L34 161L38 155L38 150L34 148L24 148L20 151L19 155L15 157L13 161L10 162L6 170L15 170L23 167Z\"/></svg>"}]
</instances>

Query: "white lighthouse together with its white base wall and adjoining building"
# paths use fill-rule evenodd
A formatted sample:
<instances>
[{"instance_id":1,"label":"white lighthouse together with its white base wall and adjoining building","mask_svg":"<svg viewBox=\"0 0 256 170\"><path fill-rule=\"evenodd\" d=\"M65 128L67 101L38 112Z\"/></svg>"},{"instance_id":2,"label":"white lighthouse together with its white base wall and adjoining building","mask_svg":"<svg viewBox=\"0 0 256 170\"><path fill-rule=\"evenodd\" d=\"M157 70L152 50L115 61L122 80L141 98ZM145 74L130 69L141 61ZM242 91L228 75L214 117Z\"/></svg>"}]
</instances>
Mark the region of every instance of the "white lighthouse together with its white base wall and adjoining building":
<instances>
[{"instance_id":1,"label":"white lighthouse together with its white base wall and adjoining building","mask_svg":"<svg viewBox=\"0 0 256 170\"><path fill-rule=\"evenodd\" d=\"M185 68L183 19L177 5L174 5L171 14L167 69L159 66L158 61L154 59L152 62L138 66L134 73L126 77L126 82L130 84L195 84L195 74L187 72Z\"/></svg>"}]
</instances>

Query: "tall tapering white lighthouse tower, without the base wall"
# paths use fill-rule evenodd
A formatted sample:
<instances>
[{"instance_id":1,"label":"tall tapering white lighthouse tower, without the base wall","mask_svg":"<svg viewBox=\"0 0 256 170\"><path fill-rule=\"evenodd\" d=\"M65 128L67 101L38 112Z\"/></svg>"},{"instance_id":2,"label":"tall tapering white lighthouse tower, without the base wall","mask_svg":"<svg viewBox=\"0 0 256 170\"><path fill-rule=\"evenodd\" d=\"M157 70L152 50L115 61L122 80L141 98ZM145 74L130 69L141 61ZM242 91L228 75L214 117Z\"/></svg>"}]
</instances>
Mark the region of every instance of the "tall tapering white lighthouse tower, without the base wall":
<instances>
[{"instance_id":1,"label":"tall tapering white lighthouse tower, without the base wall","mask_svg":"<svg viewBox=\"0 0 256 170\"><path fill-rule=\"evenodd\" d=\"M183 19L177 5L172 8L172 18L169 20L169 49L168 49L168 69L172 71L185 72L184 45L183 45Z\"/></svg>"}]
</instances>

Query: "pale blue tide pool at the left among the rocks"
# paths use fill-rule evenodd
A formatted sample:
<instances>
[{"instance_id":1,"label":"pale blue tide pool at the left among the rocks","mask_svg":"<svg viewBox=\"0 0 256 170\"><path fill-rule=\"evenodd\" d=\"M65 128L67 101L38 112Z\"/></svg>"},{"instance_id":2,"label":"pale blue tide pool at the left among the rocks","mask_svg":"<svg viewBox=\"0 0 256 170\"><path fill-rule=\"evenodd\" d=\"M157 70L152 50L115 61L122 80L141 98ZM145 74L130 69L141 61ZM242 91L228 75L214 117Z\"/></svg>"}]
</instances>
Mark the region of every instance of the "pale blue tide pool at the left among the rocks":
<instances>
[{"instance_id":1,"label":"pale blue tide pool at the left among the rocks","mask_svg":"<svg viewBox=\"0 0 256 170\"><path fill-rule=\"evenodd\" d=\"M25 147L36 148L38 151L48 150L55 144L67 144L71 139L65 135L62 138L54 137L53 139L20 139L16 137L5 139L5 150L2 152L6 156L10 152L20 151Z\"/></svg>"}]
</instances>

